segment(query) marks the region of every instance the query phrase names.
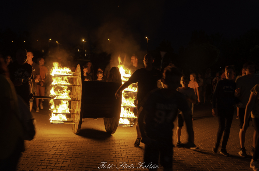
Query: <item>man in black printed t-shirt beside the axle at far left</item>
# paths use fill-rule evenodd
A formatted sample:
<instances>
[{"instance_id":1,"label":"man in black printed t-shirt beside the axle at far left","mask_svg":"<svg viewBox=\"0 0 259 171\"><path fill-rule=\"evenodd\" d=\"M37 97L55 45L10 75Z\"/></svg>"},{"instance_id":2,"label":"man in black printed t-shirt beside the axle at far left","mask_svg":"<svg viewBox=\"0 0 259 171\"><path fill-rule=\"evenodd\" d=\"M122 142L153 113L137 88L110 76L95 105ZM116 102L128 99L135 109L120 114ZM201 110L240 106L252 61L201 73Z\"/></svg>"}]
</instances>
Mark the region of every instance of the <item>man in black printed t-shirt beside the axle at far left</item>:
<instances>
[{"instance_id":1,"label":"man in black printed t-shirt beside the axle at far left","mask_svg":"<svg viewBox=\"0 0 259 171\"><path fill-rule=\"evenodd\" d=\"M31 79L33 77L32 66L27 64L27 51L19 49L16 53L17 61L8 65L10 79L15 86L16 92L23 100L29 104L29 94L31 93Z\"/></svg>"}]
</instances>

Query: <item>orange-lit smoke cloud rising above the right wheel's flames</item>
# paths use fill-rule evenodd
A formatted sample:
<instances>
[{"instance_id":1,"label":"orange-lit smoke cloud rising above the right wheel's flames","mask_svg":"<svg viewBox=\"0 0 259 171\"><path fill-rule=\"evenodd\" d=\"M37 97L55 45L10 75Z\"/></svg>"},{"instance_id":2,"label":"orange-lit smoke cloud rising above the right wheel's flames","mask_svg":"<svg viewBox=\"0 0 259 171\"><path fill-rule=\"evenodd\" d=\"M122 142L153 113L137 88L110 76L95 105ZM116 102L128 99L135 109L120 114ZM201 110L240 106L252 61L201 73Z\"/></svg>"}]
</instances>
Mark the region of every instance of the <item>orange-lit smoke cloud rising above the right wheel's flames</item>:
<instances>
[{"instance_id":1,"label":"orange-lit smoke cloud rising above the right wheel's flames","mask_svg":"<svg viewBox=\"0 0 259 171\"><path fill-rule=\"evenodd\" d=\"M111 54L114 61L118 61L119 55L122 61L126 56L129 65L133 54L138 56L138 61L143 61L146 51L141 50L140 44L135 40L137 36L127 28L127 23L122 19L102 24L93 35L97 39L97 49Z\"/></svg>"}]
</instances>

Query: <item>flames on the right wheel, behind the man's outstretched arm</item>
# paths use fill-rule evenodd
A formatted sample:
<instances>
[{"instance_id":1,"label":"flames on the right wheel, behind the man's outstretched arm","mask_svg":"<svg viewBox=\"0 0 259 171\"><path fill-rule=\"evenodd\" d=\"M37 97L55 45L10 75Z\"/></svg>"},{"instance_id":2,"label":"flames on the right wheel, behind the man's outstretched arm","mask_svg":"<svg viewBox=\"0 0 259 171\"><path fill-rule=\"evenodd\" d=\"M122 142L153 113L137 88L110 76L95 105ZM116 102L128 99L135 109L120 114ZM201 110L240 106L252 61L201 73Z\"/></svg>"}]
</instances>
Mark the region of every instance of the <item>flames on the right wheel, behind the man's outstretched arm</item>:
<instances>
[{"instance_id":1,"label":"flames on the right wheel, behind the man's outstretched arm","mask_svg":"<svg viewBox=\"0 0 259 171\"><path fill-rule=\"evenodd\" d=\"M133 73L131 72L130 69L124 66L120 56L118 57L118 61L119 61L118 68L121 74L122 84L124 84L124 82L129 80L130 76ZM133 96L128 96L129 92L137 92L137 84L131 84L126 89L124 89L124 91L122 91L122 104L121 104L122 107L121 107L121 113L120 113L121 118L119 120L119 124L130 124L130 119L137 118L133 113L133 109L129 108L129 107L133 107L133 108L136 107L134 102L134 100L136 100L136 94L133 94Z\"/></svg>"}]
</instances>

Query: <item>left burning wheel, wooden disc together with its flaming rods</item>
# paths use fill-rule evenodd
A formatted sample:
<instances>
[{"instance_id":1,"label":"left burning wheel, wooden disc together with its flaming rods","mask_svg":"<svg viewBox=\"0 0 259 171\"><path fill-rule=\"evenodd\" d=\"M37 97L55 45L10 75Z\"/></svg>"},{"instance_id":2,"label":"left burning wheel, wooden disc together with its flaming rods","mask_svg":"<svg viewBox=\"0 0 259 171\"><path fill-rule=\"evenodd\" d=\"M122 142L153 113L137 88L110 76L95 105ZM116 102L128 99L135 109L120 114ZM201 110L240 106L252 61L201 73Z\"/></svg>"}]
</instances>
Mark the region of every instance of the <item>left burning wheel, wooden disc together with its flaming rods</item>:
<instances>
[{"instance_id":1,"label":"left burning wheel, wooden disc together with its flaming rods","mask_svg":"<svg viewBox=\"0 0 259 171\"><path fill-rule=\"evenodd\" d=\"M61 68L58 63L53 63L51 100L51 124L72 124L75 134L79 133L82 124L81 100L82 81L80 65L76 71L69 68ZM71 79L73 83L71 84ZM69 93L72 92L72 95ZM70 102L70 105L69 105ZM70 106L70 109L69 109ZM71 118L67 118L71 115Z\"/></svg>"}]
</instances>

